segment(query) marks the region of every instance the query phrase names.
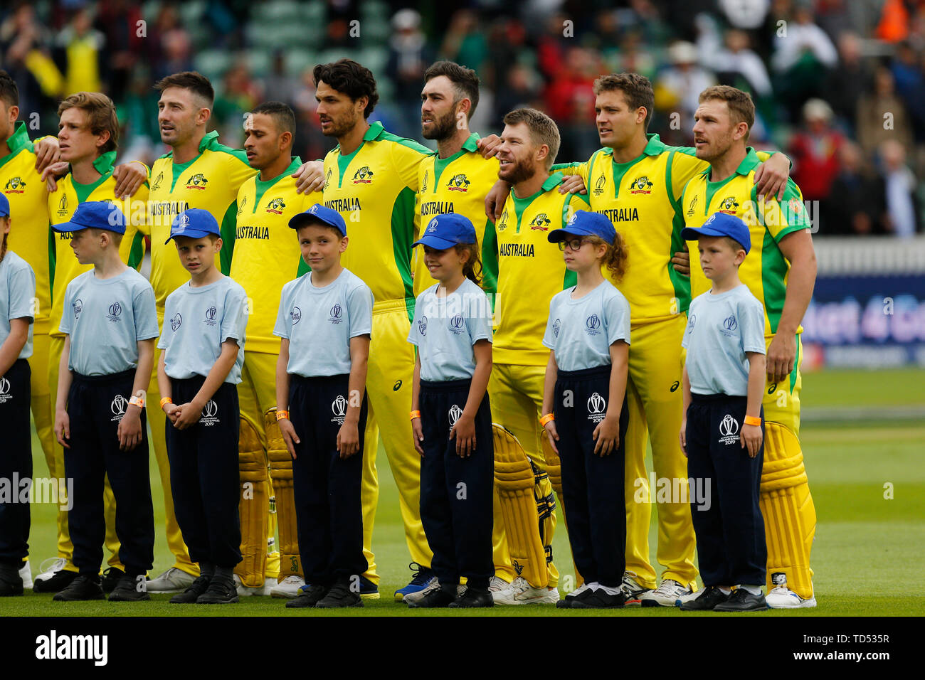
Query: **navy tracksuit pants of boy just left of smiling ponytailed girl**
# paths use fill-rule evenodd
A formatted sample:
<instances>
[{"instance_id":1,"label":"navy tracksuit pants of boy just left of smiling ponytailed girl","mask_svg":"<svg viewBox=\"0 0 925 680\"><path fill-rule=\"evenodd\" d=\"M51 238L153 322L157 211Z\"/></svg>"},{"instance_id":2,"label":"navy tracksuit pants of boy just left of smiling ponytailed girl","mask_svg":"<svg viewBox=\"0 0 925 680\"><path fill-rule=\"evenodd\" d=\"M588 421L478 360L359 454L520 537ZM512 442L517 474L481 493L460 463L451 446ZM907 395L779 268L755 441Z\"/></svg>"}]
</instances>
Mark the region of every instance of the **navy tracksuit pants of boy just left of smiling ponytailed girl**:
<instances>
[{"instance_id":1,"label":"navy tracksuit pants of boy just left of smiling ponytailed girl","mask_svg":"<svg viewBox=\"0 0 925 680\"><path fill-rule=\"evenodd\" d=\"M362 575L363 441L366 397L360 407L360 451L342 459L338 432L349 405L349 375L302 377L290 374L290 421L301 443L295 445L292 488L299 553L305 583L330 586Z\"/></svg>"}]
</instances>

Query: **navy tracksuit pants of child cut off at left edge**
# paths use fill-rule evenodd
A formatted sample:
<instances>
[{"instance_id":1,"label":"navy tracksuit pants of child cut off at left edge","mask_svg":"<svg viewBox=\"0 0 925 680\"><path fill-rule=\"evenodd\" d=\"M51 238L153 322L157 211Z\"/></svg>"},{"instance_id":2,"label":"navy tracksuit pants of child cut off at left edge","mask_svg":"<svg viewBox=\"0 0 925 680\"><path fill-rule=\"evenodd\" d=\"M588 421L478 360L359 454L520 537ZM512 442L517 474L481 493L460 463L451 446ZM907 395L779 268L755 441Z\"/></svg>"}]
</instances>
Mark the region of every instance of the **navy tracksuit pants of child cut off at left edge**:
<instances>
[{"instance_id":1,"label":"navy tracksuit pants of child cut off at left edge","mask_svg":"<svg viewBox=\"0 0 925 680\"><path fill-rule=\"evenodd\" d=\"M0 562L14 564L17 569L29 554L29 498L22 498L22 493L28 493L32 479L30 378L25 359L17 359L0 376L0 479L6 480L11 496L0 502Z\"/></svg>"}]
</instances>

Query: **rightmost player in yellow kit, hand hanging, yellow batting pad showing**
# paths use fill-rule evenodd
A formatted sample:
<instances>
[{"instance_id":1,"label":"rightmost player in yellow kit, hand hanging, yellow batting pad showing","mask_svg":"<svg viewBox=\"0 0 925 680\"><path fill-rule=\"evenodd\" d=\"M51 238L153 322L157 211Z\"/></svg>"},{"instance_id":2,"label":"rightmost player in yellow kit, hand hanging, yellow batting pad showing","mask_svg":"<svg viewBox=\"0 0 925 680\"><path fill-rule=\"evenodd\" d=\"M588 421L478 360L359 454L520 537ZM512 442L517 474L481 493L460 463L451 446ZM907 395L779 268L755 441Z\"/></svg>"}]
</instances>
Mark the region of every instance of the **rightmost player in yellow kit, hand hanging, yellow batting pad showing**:
<instances>
[{"instance_id":1,"label":"rightmost player in yellow kit, hand hanging, yellow batting pad showing","mask_svg":"<svg viewBox=\"0 0 925 680\"><path fill-rule=\"evenodd\" d=\"M695 115L697 158L709 167L687 182L681 207L685 224L703 224L706 216L727 213L741 218L751 233L752 249L739 267L739 278L764 304L768 382L762 406L765 419L764 467L760 506L768 544L768 604L776 608L816 606L809 552L816 511L799 443L800 322L816 280L816 255L803 195L793 181L783 199L759 198L755 172L759 158L746 148L755 121L751 97L719 85L700 94ZM697 241L688 246L697 251ZM691 294L709 290L697 256L691 257Z\"/></svg>"}]
</instances>

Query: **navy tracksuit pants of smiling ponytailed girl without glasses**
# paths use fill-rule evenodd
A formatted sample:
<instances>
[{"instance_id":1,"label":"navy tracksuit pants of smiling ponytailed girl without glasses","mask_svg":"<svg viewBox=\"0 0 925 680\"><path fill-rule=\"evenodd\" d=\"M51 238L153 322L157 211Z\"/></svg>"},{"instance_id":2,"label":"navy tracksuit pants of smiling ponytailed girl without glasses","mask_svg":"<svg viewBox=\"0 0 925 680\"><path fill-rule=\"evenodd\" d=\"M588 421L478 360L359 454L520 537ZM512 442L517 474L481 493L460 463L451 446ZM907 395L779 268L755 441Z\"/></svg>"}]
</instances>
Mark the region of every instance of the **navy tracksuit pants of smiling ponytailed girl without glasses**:
<instances>
[{"instance_id":1,"label":"navy tracksuit pants of smiling ponytailed girl without glasses","mask_svg":"<svg viewBox=\"0 0 925 680\"><path fill-rule=\"evenodd\" d=\"M469 586L487 589L495 574L491 553L495 451L487 395L475 414L475 451L461 458L456 439L450 439L450 428L469 399L470 384L471 380L421 380L421 522L440 586L452 587L464 576Z\"/></svg>"}]
</instances>

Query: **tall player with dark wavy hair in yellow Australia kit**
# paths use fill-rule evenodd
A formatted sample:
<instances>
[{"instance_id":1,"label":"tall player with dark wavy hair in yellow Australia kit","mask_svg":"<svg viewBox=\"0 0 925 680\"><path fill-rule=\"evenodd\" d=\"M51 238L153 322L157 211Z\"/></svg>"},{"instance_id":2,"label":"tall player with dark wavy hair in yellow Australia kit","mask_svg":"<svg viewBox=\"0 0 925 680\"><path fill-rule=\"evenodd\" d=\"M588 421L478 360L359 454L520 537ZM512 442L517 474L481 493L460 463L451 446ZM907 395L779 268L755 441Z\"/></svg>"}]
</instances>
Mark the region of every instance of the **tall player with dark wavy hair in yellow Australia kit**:
<instances>
[{"instance_id":1,"label":"tall player with dark wavy hair in yellow Australia kit","mask_svg":"<svg viewBox=\"0 0 925 680\"><path fill-rule=\"evenodd\" d=\"M376 80L368 68L340 59L314 68L321 131L338 145L324 160L324 204L350 225L353 246L341 264L373 291L373 334L369 349L363 533L369 570L361 595L375 597L378 575L369 550L378 501L376 449L382 435L388 464L399 488L401 519L415 575L395 597L426 587L432 553L420 509L420 456L414 451L411 421L413 346L406 341L414 310L411 244L415 233L418 166L431 154L417 142L397 137L381 123L366 120L376 106Z\"/></svg>"}]
</instances>

